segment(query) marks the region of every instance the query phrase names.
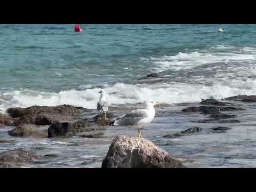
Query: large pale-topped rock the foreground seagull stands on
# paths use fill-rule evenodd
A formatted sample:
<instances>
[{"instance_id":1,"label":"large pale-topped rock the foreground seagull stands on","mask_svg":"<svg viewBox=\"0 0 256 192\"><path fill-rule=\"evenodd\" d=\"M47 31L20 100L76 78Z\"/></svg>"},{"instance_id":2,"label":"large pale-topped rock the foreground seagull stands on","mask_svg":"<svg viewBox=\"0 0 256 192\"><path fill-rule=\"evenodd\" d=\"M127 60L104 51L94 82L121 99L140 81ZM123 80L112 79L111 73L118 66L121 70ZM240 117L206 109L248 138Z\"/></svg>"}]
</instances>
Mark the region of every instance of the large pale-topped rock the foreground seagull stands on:
<instances>
[{"instance_id":1,"label":"large pale-topped rock the foreground seagull stands on","mask_svg":"<svg viewBox=\"0 0 256 192\"><path fill-rule=\"evenodd\" d=\"M102 168L183 168L178 159L153 142L137 137L116 137Z\"/></svg>"}]
</instances>

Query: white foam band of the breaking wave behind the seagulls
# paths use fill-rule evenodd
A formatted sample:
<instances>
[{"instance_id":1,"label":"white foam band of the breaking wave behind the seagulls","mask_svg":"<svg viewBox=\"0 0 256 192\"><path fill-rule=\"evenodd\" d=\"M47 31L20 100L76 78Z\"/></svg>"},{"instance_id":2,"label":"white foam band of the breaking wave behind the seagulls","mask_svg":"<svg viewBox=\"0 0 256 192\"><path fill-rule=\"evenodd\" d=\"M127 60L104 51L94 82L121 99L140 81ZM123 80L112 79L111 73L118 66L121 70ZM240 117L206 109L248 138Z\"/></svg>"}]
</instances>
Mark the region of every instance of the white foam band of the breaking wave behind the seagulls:
<instances>
[{"instance_id":1,"label":"white foam band of the breaking wave behind the seagulls","mask_svg":"<svg viewBox=\"0 0 256 192\"><path fill-rule=\"evenodd\" d=\"M3 113L10 107L57 106L73 105L84 108L95 109L99 100L101 89L68 90L59 93L35 92L31 90L21 90L0 94L0 110ZM216 82L212 86L202 84L186 83L161 83L153 85L130 85L117 83L107 86L105 89L107 100L110 105L114 104L134 104L143 102L145 99L153 99L157 102L180 103L198 102L201 98L214 97L223 99L238 94L252 95L256 93L256 80L231 81L228 84ZM116 93L114 93L116 92Z\"/></svg>"}]
</instances>

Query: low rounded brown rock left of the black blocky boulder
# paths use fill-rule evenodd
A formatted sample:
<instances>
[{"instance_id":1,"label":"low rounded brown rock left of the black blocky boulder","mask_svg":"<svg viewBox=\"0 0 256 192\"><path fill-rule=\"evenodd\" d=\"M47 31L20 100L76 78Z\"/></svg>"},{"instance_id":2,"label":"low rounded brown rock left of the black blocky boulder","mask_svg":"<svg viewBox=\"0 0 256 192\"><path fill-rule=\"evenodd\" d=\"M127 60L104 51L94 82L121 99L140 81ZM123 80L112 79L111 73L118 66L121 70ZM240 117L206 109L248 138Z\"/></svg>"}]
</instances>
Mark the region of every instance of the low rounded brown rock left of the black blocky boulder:
<instances>
[{"instance_id":1,"label":"low rounded brown rock left of the black blocky boulder","mask_svg":"<svg viewBox=\"0 0 256 192\"><path fill-rule=\"evenodd\" d=\"M8 131L9 135L15 137L30 137L38 133L38 126L33 124L20 124L11 131Z\"/></svg>"}]
</instances>

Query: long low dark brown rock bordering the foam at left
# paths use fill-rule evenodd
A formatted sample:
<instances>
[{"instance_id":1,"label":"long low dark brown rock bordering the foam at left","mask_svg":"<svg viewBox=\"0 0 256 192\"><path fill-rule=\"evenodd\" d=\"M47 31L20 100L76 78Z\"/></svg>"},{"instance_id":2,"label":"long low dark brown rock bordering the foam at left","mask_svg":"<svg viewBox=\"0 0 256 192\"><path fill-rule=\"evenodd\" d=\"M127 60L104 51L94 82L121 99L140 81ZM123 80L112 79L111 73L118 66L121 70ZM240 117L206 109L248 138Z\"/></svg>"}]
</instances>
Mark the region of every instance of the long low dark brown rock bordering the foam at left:
<instances>
[{"instance_id":1,"label":"long low dark brown rock bordering the foam at left","mask_svg":"<svg viewBox=\"0 0 256 192\"><path fill-rule=\"evenodd\" d=\"M61 105L55 107L47 106L31 106L27 108L9 108L7 113L13 117L22 117L24 115L36 115L36 114L60 114L65 116L77 116L81 113L81 107L74 107L70 105Z\"/></svg>"}]
</instances>

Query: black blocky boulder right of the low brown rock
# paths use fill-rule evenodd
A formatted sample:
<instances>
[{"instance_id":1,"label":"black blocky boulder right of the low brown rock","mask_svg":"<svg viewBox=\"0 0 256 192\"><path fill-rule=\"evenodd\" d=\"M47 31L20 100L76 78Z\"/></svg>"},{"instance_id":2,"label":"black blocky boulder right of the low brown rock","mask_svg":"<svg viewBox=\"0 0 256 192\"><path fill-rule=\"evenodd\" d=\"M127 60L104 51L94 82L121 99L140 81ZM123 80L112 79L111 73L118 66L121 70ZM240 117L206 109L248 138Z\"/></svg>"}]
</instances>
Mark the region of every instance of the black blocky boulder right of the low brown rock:
<instances>
[{"instance_id":1,"label":"black blocky boulder right of the low brown rock","mask_svg":"<svg viewBox=\"0 0 256 192\"><path fill-rule=\"evenodd\" d=\"M48 128L48 137L71 137L76 135L74 127L70 123L55 122Z\"/></svg>"}]
</instances>

